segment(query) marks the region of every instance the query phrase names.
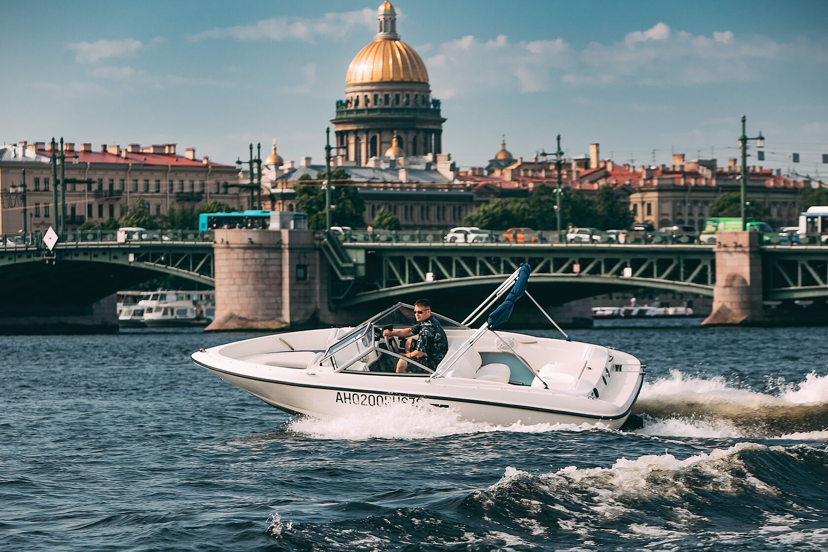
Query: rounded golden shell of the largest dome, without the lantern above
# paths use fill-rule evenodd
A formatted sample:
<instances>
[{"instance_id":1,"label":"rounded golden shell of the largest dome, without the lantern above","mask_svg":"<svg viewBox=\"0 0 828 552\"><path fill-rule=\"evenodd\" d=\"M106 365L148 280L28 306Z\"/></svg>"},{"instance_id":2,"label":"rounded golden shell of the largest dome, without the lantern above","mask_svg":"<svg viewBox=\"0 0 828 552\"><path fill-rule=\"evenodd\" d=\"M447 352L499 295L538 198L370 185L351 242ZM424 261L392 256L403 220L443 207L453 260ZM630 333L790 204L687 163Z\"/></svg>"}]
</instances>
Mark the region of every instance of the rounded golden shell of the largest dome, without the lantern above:
<instances>
[{"instance_id":1,"label":"rounded golden shell of the largest dome, without the lantern above","mask_svg":"<svg viewBox=\"0 0 828 552\"><path fill-rule=\"evenodd\" d=\"M386 2L388 3L388 2ZM428 71L419 55L403 41L377 39L348 66L347 84L388 81L427 83Z\"/></svg>"}]
</instances>

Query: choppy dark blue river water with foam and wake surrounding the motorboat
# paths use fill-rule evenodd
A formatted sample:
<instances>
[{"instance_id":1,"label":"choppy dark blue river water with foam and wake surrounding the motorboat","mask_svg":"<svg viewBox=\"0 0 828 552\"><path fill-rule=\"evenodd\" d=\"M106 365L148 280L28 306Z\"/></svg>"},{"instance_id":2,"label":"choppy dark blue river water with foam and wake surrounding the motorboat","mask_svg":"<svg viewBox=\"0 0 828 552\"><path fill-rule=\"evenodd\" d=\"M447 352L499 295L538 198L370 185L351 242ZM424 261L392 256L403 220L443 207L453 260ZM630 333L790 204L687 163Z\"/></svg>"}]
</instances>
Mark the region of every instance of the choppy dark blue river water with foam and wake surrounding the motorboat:
<instances>
[{"instance_id":1,"label":"choppy dark blue river water with foam and wake surrounding the motorboat","mask_svg":"<svg viewBox=\"0 0 828 552\"><path fill-rule=\"evenodd\" d=\"M648 364L633 431L293 420L190 363L249 335L4 337L0 550L826 550L826 329L647 324L573 332Z\"/></svg>"}]
</instances>

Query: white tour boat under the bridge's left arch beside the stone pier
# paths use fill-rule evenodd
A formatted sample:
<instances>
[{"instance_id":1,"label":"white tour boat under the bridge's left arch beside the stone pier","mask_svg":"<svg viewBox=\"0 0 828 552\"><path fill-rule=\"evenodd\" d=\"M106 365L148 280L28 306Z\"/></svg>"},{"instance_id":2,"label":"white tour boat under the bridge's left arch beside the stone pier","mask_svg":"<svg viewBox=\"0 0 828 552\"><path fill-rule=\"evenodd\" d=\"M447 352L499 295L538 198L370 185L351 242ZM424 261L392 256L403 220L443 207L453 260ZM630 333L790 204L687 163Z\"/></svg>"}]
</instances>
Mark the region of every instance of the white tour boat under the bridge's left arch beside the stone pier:
<instances>
[{"instance_id":1,"label":"white tour boat under the bridge's left arch beside the stone pier","mask_svg":"<svg viewBox=\"0 0 828 552\"><path fill-rule=\"evenodd\" d=\"M147 328L206 326L215 315L214 291L156 291L141 321ZM141 305L141 301L138 301Z\"/></svg>"}]
</instances>

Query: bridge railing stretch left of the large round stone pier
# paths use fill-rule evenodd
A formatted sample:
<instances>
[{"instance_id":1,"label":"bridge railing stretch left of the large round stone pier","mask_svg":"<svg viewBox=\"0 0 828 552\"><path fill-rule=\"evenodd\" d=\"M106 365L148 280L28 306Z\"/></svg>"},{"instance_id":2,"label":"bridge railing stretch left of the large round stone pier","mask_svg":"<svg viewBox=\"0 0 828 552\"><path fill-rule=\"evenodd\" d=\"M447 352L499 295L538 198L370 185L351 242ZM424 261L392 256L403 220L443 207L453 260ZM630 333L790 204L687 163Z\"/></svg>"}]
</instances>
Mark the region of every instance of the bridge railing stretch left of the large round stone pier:
<instances>
[{"instance_id":1,"label":"bridge railing stretch left of the large round stone pier","mask_svg":"<svg viewBox=\"0 0 828 552\"><path fill-rule=\"evenodd\" d=\"M45 247L45 232L2 234L0 248ZM127 232L123 242L214 242L213 231L199 230L145 230ZM118 230L73 230L65 232L58 243L112 242L118 243Z\"/></svg>"}]
</instances>

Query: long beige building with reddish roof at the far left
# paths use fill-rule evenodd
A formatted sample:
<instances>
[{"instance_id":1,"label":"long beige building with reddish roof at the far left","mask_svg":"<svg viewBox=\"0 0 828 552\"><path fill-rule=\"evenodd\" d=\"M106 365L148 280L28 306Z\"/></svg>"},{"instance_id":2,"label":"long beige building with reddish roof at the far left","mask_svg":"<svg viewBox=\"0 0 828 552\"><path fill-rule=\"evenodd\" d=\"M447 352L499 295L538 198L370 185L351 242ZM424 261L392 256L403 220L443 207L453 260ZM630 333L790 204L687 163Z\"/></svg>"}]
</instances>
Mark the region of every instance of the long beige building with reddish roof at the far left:
<instances>
[{"instance_id":1,"label":"long beige building with reddish roof at the far left","mask_svg":"<svg viewBox=\"0 0 828 552\"><path fill-rule=\"evenodd\" d=\"M125 148L103 144L93 151L89 143L75 148L75 143L65 142L62 151L58 150L60 146L55 147L55 156L63 159L55 160L53 170L50 142L0 147L0 233L21 232L24 213L29 232L55 225L55 184L60 183L61 163L65 163L67 230L87 221L119 218L122 209L131 208L139 198L147 202L152 216L167 214L171 208L195 209L213 199L234 209L247 208L246 196L238 191L236 167L214 163L206 156L196 158L195 148L187 148L181 156L176 144Z\"/></svg>"}]
</instances>

